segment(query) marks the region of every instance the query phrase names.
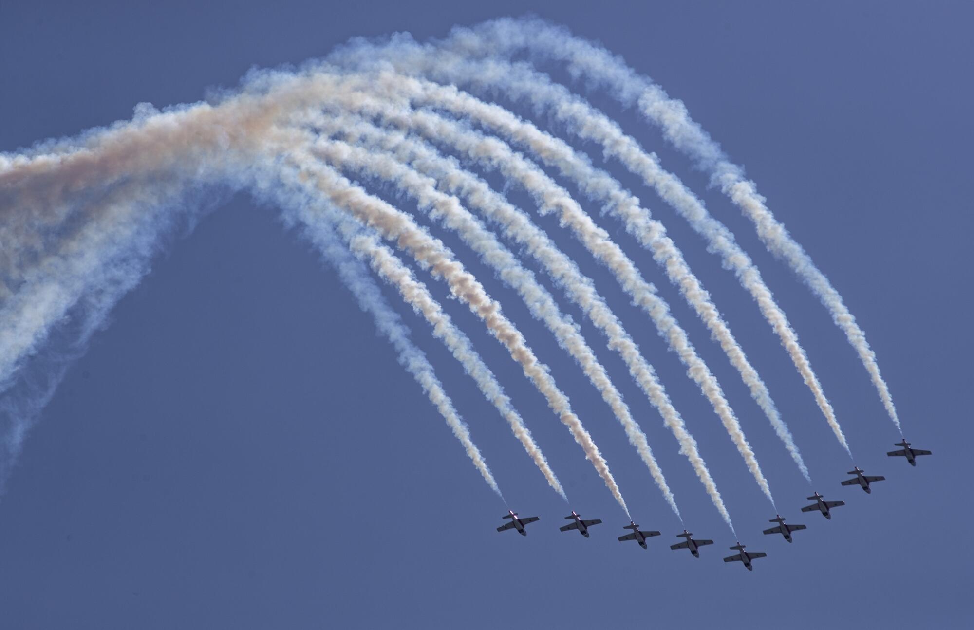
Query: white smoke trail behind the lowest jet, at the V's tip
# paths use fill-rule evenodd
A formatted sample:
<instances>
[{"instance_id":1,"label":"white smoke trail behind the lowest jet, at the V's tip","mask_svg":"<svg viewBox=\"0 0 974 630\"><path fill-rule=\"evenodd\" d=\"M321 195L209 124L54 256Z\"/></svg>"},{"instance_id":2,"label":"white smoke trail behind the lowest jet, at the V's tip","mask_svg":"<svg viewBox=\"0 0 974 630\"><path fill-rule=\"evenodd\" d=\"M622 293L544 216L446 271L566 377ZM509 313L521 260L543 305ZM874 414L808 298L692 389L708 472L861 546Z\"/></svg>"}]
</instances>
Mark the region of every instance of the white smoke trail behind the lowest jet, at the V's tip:
<instances>
[{"instance_id":1,"label":"white smoke trail behind the lowest jet, at the V's tip","mask_svg":"<svg viewBox=\"0 0 974 630\"><path fill-rule=\"evenodd\" d=\"M684 426L679 412L669 402L665 390L656 382L652 366L643 359L636 345L622 329L616 315L612 314L604 300L594 291L591 280L581 275L575 263L559 251L546 235L534 226L527 215L508 204L502 195L497 194L485 182L464 170L455 160L443 158L424 142L402 133L380 130L361 119L346 115L319 115L311 118L308 124L322 133L340 132L356 144L366 146L373 151L393 151L397 160L430 175L440 187L447 189L447 192L463 195L471 207L501 225L508 238L523 245L543 265L552 280L565 288L569 297L581 306L592 322L609 337L609 347L620 353L630 374L651 395L664 423L680 442L681 453L688 457L714 505L731 526L731 530L733 529L731 517L721 499L720 492L706 464L699 456L696 441ZM346 157L343 155L343 159ZM372 156L369 159L380 160ZM391 176L390 167L383 170L387 176ZM442 214L445 218L447 212L442 211ZM638 430L638 426L636 429ZM628 427L627 433L631 435ZM645 437L641 441L645 443Z\"/></svg>"}]
</instances>

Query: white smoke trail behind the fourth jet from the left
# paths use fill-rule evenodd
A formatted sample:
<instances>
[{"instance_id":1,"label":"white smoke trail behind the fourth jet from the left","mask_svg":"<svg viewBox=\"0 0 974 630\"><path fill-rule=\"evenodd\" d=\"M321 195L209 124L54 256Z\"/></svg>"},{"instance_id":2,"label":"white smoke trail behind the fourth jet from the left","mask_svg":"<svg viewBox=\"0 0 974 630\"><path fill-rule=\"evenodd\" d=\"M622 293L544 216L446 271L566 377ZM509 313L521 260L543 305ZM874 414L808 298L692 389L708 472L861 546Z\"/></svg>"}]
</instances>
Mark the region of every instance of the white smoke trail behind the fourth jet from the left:
<instances>
[{"instance_id":1,"label":"white smoke trail behind the fourth jet from the left","mask_svg":"<svg viewBox=\"0 0 974 630\"><path fill-rule=\"evenodd\" d=\"M419 174L410 167L403 166L388 155L370 153L343 142L325 139L319 139L314 145L314 153L328 164L355 169L371 177L393 182L400 191L413 197L418 202L420 209L428 211L431 217L449 229L456 230L470 248L480 255L483 262L492 267L507 285L521 295L531 314L543 321L544 325L555 335L559 346L569 352L579 363L585 376L599 390L602 398L612 408L619 423L625 429L629 442L636 447L643 463L650 469L650 473L663 497L677 516L680 515L676 500L666 483L662 470L656 463L646 434L633 420L621 394L613 385L605 368L595 357L595 353L585 343L577 326L571 318L561 313L548 291L535 280L534 275L526 270L506 247L497 241L490 231L469 214L468 210L455 197L437 191L435 180ZM568 261L564 256L562 258L563 263L575 268L574 263ZM577 269L573 279L584 284L585 289L587 289L587 302L576 297L576 301L580 302L582 308L587 307L589 314L593 308L600 308L602 312L608 312L608 308L605 307L601 297L595 294L591 288L590 280L581 278ZM575 295L581 290L580 286L573 285L572 288L576 292ZM589 295L592 297L588 297ZM593 307L588 304L589 302L596 302L598 305ZM615 315L611 313L609 316L615 318ZM615 336L619 338L618 343L627 342L632 348L635 348L631 339L625 335L624 331L621 331L618 323L617 327L620 331L615 333Z\"/></svg>"}]
</instances>

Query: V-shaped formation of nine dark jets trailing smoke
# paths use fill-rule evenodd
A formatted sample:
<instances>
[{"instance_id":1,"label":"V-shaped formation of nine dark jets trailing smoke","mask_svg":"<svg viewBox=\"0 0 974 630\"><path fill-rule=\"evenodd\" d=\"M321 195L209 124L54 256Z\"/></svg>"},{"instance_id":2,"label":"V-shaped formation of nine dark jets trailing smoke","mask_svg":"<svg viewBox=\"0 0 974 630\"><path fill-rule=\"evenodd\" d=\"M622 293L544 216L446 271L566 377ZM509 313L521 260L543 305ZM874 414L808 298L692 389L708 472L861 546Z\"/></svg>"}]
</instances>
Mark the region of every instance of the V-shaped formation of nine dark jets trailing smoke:
<instances>
[{"instance_id":1,"label":"V-shaped formation of nine dark jets trailing smoke","mask_svg":"<svg viewBox=\"0 0 974 630\"><path fill-rule=\"evenodd\" d=\"M896 446L902 446L903 449L899 451L889 451L886 453L888 457L905 457L907 462L912 466L917 465L916 457L918 455L931 455L930 451L923 451L920 449L911 448L910 442L904 439L902 442L897 442ZM846 479L842 482L843 486L859 486L866 493L872 493L870 484L876 483L878 481L884 481L885 477L882 476L868 476L863 474L863 470L859 466L854 466L854 469L847 474L855 475L851 479ZM841 507L845 504L843 500L825 500L825 498L819 493L815 492L808 500L815 501L811 505L805 505L802 508L803 512L814 512L818 511L827 519L832 519L832 509L835 507ZM534 523L540 520L537 516L529 516L527 518L520 518L517 512L512 510L507 510L504 518L509 518L510 522L497 528L498 532L504 532L505 530L517 530L517 533L521 536L527 536L527 530L524 526L528 523ZM581 514L572 510L572 513L565 517L567 520L572 522L559 528L562 532L568 532L570 530L578 530L581 536L589 537L588 528L599 525L602 523L601 519L583 520ZM794 542L792 538L793 532L800 532L802 530L808 529L806 525L789 525L785 523L785 519L780 514L775 514L774 518L768 520L769 523L777 523L777 527L771 527L764 531L765 536L780 534L788 542ZM659 536L659 532L656 531L642 531L639 529L639 524L635 521L629 521L628 525L623 525L622 529L632 530L631 533L625 536L618 537L619 542L625 542L627 540L635 540L644 549L649 549L649 545L646 544L647 538ZM700 557L700 547L706 546L708 544L713 544L713 540L694 538L693 532L688 532L684 530L682 534L676 535L678 538L684 538L682 542L677 542L676 544L671 544L670 549L689 549L693 554L694 558ZM732 545L730 548L737 553L727 556L724 558L724 562L740 562L743 563L744 568L748 571L754 571L754 566L751 564L753 560L758 558L765 558L768 556L764 551L746 551L746 546L737 540L737 544Z\"/></svg>"}]
</instances>

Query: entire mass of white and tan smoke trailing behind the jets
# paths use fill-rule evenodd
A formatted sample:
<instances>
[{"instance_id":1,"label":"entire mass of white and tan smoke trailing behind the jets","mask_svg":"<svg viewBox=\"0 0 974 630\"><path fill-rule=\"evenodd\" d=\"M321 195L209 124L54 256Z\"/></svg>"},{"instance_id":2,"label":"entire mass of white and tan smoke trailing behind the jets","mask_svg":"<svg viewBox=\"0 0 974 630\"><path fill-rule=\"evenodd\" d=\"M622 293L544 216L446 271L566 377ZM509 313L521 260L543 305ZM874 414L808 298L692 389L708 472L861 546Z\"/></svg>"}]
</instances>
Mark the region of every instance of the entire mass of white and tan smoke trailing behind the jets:
<instances>
[{"instance_id":1,"label":"entire mass of white and tan smoke trailing behind the jets","mask_svg":"<svg viewBox=\"0 0 974 630\"><path fill-rule=\"evenodd\" d=\"M680 250L639 200L557 137L500 106L452 85L426 81L422 78L425 76L440 83L468 84L481 92L504 93L508 98L528 101L534 111L546 113L550 120L582 140L597 143L607 157L640 175L707 238L710 248L722 255L726 266L758 301L844 446L841 428L797 335L730 231L614 121L554 84L529 63L512 62L511 57L523 55L529 60L564 63L570 73L591 86L608 89L625 104L638 105L671 142L693 157L698 167L710 171L713 181L755 222L768 248L784 258L830 309L859 352L880 389L887 411L899 426L875 356L838 292L775 221L765 200L754 184L744 179L740 168L731 165L719 147L693 123L682 103L670 99L648 79L639 77L604 50L537 20L495 20L473 29L457 29L431 47L395 38L391 44L375 49L385 51L387 56L374 59L378 65L368 74L334 70L334 63L343 58L350 62L348 69L355 70L351 63L355 53L350 51L364 50L364 45L354 44L326 62L298 71L253 72L239 90L223 93L212 102L162 112L139 105L131 121L78 137L47 141L18 153L0 154L0 413L4 414L0 422L5 423L0 428L9 454L0 467L0 476L9 471L30 423L53 392L63 366L83 352L87 340L104 325L111 307L145 274L152 256L175 228L192 224L200 212L201 191L229 184L237 186L235 190L251 188L257 195L277 200L285 206L291 221L304 226L322 255L336 265L359 304L376 318L377 326L397 350L400 362L425 389L492 488L497 490L490 470L470 441L467 426L436 380L429 361L409 341L408 330L389 305L376 301L381 294L368 276L369 270L391 283L404 301L431 323L434 335L461 360L481 391L502 413L549 485L562 492L540 449L466 335L442 313L425 285L380 239L409 255L434 278L445 281L450 293L483 321L544 395L619 505L626 509L608 463L572 411L568 397L557 388L514 323L502 314L498 302L487 295L441 241L431 237L408 214L342 175L342 171L352 170L372 181L391 182L400 193L415 198L420 209L456 229L521 294L532 314L556 334L559 343L576 358L613 407L630 441L675 509L672 493L649 451L646 436L577 327L560 312L531 272L468 212L460 198L538 260L545 274L581 307L607 337L610 348L623 357L630 375L660 411L711 500L730 525L730 517L693 437L683 426L652 366L595 291L591 280L582 276L575 262L523 212L464 166L498 171L507 183L523 188L542 213L556 214L613 272L684 361L689 375L711 402L770 499L768 482L722 389L696 355L668 306L656 295L655 287L642 278L634 263L581 205L532 160L571 179L586 197L620 218L626 230L653 251L667 278L680 288L720 342L779 438L805 471L787 426L780 420L757 371L693 277ZM390 59L388 54L398 50L412 53ZM390 68L395 71L390 72ZM473 68L483 71L472 72L471 76ZM307 126L307 121L322 113L354 119L358 121L356 129L323 132ZM435 148L441 145L449 147L460 159L441 155ZM520 155L514 146L527 149L531 157ZM38 368L45 352L50 352L45 349L58 326L69 329L73 344L69 352L48 354L50 360ZM31 357L36 358L31 361ZM31 391L19 389L29 385L32 371L38 369L47 370L40 385Z\"/></svg>"}]
</instances>

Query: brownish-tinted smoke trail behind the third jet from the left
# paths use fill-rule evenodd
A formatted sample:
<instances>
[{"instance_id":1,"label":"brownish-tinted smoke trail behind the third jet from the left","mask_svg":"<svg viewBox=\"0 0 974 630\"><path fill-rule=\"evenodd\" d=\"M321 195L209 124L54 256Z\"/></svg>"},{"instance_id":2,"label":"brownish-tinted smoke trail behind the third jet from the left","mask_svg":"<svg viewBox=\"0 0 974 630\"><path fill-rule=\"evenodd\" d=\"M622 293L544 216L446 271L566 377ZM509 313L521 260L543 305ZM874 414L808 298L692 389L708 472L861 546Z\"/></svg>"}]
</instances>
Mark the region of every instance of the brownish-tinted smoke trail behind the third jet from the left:
<instances>
[{"instance_id":1,"label":"brownish-tinted smoke trail behind the third jet from the left","mask_svg":"<svg viewBox=\"0 0 974 630\"><path fill-rule=\"evenodd\" d=\"M408 251L421 266L430 271L433 277L444 279L450 287L451 294L467 304L470 311L484 321L491 334L505 346L511 358L521 366L525 376L543 394L548 406L569 428L584 451L585 458L595 466L606 487L628 514L625 500L619 492L608 463L592 441L591 435L582 426L581 420L572 411L568 397L557 388L547 367L538 360L534 351L527 346L520 331L501 313L501 306L487 295L480 282L470 275L461 263L453 259L449 250L440 241L433 239L425 230L417 226L407 214L369 195L331 167L320 165L300 144L291 143L288 146L293 147L287 154L288 160L299 168L302 176L316 187L319 194L331 204L343 208L357 220L377 230L384 239L395 241L397 247ZM361 238L356 242L360 241ZM380 254L375 253L373 248L370 249L369 255L375 260ZM393 263L387 261L387 264ZM376 271L378 273L378 270ZM402 271L408 273L404 267ZM412 281L415 283L415 280ZM423 290L426 290L425 287ZM400 293L402 293L401 289ZM409 299L406 294L403 294L403 298L407 301Z\"/></svg>"}]
</instances>

